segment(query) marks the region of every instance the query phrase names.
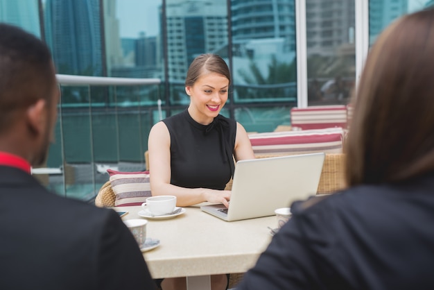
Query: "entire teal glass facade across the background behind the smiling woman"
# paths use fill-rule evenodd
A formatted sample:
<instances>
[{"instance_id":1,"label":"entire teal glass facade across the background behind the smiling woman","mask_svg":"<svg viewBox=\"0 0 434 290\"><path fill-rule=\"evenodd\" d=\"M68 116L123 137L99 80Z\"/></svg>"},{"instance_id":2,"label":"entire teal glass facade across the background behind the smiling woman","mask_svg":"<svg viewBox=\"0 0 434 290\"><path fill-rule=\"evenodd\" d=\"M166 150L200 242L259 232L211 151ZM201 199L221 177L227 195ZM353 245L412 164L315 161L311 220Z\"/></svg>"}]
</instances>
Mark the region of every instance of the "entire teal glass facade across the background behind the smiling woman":
<instances>
[{"instance_id":1,"label":"entire teal glass facade across the background behind the smiling woman","mask_svg":"<svg viewBox=\"0 0 434 290\"><path fill-rule=\"evenodd\" d=\"M184 78L200 53L217 53L229 65L232 87L222 114L249 132L289 125L300 98L308 105L347 103L357 80L356 48L372 45L397 17L434 6L433 0L367 1L363 44L356 42L357 1L0 0L0 21L44 40L58 74L159 80L60 81L57 139L46 167L61 173L38 177L59 194L90 201L108 179L107 168L144 169L149 130L189 104ZM297 51L300 33L306 51Z\"/></svg>"}]
</instances>

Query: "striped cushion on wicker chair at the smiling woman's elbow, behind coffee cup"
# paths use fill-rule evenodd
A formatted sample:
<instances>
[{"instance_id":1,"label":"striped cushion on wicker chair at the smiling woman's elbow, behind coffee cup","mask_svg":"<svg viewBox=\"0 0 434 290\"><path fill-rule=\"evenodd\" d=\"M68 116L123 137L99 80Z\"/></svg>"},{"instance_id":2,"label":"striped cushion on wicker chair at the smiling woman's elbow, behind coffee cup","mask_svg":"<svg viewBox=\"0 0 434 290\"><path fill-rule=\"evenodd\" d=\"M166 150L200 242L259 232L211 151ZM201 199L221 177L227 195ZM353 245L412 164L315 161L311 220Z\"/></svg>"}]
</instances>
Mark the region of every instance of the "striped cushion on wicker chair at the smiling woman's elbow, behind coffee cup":
<instances>
[{"instance_id":1,"label":"striped cushion on wicker chair at the smiling woman's elbow, behind coffee cup","mask_svg":"<svg viewBox=\"0 0 434 290\"><path fill-rule=\"evenodd\" d=\"M120 172L107 169L115 195L114 206L141 205L151 196L149 171Z\"/></svg>"}]
</instances>

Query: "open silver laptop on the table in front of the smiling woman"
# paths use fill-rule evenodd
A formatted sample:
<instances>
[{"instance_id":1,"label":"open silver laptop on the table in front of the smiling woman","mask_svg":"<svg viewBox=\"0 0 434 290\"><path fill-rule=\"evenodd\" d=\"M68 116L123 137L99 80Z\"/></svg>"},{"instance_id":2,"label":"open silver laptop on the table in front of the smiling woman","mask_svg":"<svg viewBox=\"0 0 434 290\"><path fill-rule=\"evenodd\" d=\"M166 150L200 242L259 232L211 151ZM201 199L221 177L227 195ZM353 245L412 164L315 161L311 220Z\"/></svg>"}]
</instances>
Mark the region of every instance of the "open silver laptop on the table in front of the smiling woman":
<instances>
[{"instance_id":1,"label":"open silver laptop on the table in front of the smiling woman","mask_svg":"<svg viewBox=\"0 0 434 290\"><path fill-rule=\"evenodd\" d=\"M225 221L272 216L277 208L316 194L324 157L311 153L238 161L229 208L218 204L200 209Z\"/></svg>"}]
</instances>

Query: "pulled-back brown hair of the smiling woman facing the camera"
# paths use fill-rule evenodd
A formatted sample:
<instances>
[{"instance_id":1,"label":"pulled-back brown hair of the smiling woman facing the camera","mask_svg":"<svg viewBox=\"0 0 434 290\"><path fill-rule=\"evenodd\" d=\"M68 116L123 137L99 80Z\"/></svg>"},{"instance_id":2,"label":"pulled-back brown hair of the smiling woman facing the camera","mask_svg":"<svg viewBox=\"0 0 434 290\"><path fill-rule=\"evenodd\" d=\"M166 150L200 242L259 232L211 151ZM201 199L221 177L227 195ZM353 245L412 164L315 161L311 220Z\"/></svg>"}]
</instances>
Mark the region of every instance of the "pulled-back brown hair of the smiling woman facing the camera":
<instances>
[{"instance_id":1,"label":"pulled-back brown hair of the smiling woman facing the camera","mask_svg":"<svg viewBox=\"0 0 434 290\"><path fill-rule=\"evenodd\" d=\"M189 71L187 71L185 85L194 85L196 80L206 72L221 74L229 80L229 85L231 83L231 74L225 60L216 54L207 53L201 54L191 62Z\"/></svg>"}]
</instances>

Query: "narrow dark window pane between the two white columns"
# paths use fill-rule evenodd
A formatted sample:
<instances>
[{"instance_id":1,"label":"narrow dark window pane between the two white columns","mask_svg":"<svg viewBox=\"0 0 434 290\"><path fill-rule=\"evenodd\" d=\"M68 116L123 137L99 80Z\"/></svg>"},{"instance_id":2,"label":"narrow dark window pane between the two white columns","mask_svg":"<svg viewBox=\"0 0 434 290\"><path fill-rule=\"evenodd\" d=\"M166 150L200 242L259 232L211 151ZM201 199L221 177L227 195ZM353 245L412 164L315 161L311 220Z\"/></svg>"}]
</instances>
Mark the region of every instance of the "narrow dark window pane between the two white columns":
<instances>
[{"instance_id":1,"label":"narrow dark window pane between the two white columns","mask_svg":"<svg viewBox=\"0 0 434 290\"><path fill-rule=\"evenodd\" d=\"M356 76L354 0L306 0L308 105L347 103Z\"/></svg>"}]
</instances>

